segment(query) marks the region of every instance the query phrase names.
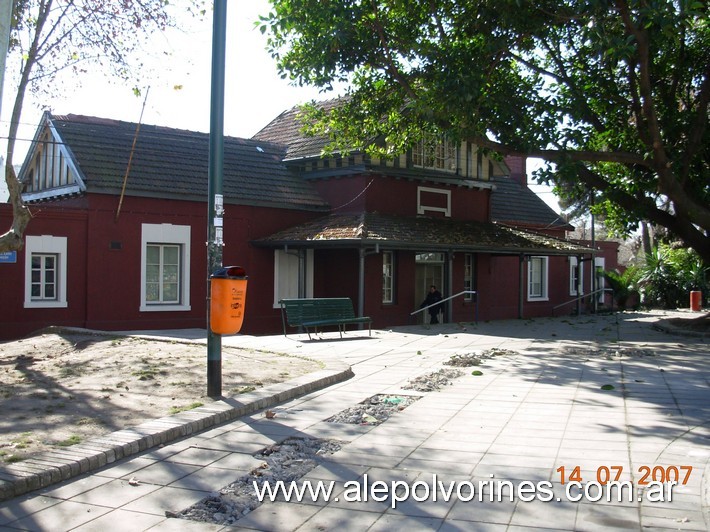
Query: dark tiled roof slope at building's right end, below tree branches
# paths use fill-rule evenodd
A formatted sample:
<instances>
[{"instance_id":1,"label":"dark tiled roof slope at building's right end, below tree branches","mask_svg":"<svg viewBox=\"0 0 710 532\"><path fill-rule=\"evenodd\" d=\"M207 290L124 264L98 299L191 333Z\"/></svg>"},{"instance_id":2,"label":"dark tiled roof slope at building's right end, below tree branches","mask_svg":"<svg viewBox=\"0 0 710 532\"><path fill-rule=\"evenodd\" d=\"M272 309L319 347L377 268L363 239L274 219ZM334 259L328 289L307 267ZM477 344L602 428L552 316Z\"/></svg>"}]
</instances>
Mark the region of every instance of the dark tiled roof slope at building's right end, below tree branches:
<instances>
[{"instance_id":1,"label":"dark tiled roof slope at building's right end, below tree branches","mask_svg":"<svg viewBox=\"0 0 710 532\"><path fill-rule=\"evenodd\" d=\"M496 187L491 197L494 222L538 229L572 229L537 194L514 179L496 177L493 184Z\"/></svg>"}]
</instances>

